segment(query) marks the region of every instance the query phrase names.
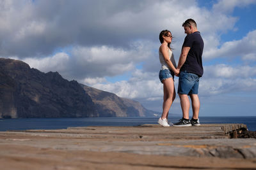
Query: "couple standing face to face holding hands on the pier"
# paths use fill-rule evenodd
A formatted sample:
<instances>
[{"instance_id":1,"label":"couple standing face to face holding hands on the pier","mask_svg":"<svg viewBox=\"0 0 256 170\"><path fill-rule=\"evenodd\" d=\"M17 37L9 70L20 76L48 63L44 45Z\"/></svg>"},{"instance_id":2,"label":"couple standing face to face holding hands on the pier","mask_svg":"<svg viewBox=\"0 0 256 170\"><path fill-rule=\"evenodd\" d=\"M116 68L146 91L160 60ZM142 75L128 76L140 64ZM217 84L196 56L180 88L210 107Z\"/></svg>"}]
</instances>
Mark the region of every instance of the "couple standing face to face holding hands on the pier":
<instances>
[{"instance_id":1,"label":"couple standing face to face holding hands on the pier","mask_svg":"<svg viewBox=\"0 0 256 170\"><path fill-rule=\"evenodd\" d=\"M173 57L172 48L172 33L168 30L161 31L159 40L159 60L161 70L159 71L159 79L163 83L163 113L158 120L158 124L163 127L170 127L168 122L168 113L175 99L174 76L179 76L178 94L180 97L180 106L182 108L182 118L179 122L173 124L179 127L188 127L191 125L198 126L200 101L198 98L199 78L202 77L204 69L202 66L202 53L204 50L204 41L197 30L195 20L189 18L182 27L187 34L182 45L179 63L176 66ZM189 119L189 97L193 110L193 117Z\"/></svg>"}]
</instances>

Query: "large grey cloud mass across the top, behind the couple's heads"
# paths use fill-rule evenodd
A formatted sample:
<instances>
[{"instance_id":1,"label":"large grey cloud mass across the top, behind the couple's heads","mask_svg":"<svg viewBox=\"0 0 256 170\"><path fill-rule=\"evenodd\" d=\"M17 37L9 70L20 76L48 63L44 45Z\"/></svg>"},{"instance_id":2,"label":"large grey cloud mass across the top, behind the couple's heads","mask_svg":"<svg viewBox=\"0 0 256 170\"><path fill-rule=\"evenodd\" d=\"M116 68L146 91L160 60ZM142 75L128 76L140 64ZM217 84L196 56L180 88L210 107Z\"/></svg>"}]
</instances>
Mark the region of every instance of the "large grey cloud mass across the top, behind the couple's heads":
<instances>
[{"instance_id":1,"label":"large grey cloud mass across the top, behind the couple's heads","mask_svg":"<svg viewBox=\"0 0 256 170\"><path fill-rule=\"evenodd\" d=\"M232 29L236 21L223 13L217 15L199 8L196 1L189 1L189 7L184 8L187 3L177 0L109 1L107 4L101 0L2 1L0 55L49 56L56 48L69 45L132 48L131 43L138 40L146 46L148 41L158 42L157 36L163 29L173 32L175 46L180 48L184 39L181 24L187 18L195 18L205 37Z\"/></svg>"}]
</instances>

